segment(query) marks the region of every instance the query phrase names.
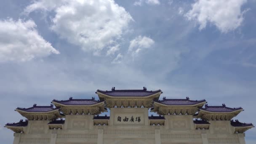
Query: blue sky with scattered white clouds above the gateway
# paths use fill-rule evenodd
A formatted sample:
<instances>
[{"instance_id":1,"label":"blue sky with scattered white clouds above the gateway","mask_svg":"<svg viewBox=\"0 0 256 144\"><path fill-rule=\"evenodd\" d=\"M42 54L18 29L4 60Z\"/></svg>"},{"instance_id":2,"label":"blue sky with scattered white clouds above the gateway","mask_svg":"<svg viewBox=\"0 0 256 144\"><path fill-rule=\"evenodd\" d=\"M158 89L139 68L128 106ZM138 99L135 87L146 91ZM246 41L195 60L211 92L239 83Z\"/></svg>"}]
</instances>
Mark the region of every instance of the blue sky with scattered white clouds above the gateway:
<instances>
[{"instance_id":1,"label":"blue sky with scattered white clouds above the gateway","mask_svg":"<svg viewBox=\"0 0 256 144\"><path fill-rule=\"evenodd\" d=\"M16 107L113 86L243 107L235 119L256 125L255 13L256 0L1 0L0 139Z\"/></svg>"}]
</instances>

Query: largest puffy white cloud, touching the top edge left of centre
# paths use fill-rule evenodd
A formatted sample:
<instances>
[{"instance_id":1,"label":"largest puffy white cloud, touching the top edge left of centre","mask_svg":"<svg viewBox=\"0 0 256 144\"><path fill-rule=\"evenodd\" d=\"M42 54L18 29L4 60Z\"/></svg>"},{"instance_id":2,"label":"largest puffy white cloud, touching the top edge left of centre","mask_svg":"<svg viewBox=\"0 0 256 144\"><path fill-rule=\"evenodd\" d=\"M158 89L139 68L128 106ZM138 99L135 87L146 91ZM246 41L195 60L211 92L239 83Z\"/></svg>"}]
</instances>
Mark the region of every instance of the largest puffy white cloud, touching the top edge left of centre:
<instances>
[{"instance_id":1,"label":"largest puffy white cloud, touching the top edge left of centre","mask_svg":"<svg viewBox=\"0 0 256 144\"><path fill-rule=\"evenodd\" d=\"M114 0L53 0L51 5L39 0L27 6L24 12L38 9L55 11L51 29L69 43L95 54L120 39L133 20Z\"/></svg>"}]
</instances>

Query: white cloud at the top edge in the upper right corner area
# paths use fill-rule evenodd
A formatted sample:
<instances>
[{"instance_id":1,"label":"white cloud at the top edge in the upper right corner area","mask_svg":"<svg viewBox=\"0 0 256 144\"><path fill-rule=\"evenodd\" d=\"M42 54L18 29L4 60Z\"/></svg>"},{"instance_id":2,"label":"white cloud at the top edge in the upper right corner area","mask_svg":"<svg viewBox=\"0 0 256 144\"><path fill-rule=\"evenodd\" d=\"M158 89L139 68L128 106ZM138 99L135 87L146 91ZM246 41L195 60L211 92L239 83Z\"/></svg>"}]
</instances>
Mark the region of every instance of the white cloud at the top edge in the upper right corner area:
<instances>
[{"instance_id":1,"label":"white cloud at the top edge in the upper right corner area","mask_svg":"<svg viewBox=\"0 0 256 144\"><path fill-rule=\"evenodd\" d=\"M196 20L199 29L204 29L207 22L214 24L221 32L227 33L239 27L243 22L241 6L247 0L197 0L185 16Z\"/></svg>"}]
</instances>

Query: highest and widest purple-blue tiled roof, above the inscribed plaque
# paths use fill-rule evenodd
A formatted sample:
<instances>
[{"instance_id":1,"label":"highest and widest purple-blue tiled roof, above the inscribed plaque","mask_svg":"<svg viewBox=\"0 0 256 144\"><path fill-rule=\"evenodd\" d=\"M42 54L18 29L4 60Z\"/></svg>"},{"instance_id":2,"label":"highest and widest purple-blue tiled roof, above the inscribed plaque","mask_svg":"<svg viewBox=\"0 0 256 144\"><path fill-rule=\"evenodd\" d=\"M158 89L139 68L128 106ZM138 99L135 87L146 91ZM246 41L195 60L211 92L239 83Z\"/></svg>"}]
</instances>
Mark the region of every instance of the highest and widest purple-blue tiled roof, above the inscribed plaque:
<instances>
[{"instance_id":1,"label":"highest and widest purple-blue tiled roof, above the inscribed plaque","mask_svg":"<svg viewBox=\"0 0 256 144\"><path fill-rule=\"evenodd\" d=\"M147 91L147 88L143 88L143 90L115 90L115 87L112 88L111 91L102 91L102 90L97 90L97 92L106 94L108 96L150 96L155 93L162 92L161 90L157 91Z\"/></svg>"}]
</instances>

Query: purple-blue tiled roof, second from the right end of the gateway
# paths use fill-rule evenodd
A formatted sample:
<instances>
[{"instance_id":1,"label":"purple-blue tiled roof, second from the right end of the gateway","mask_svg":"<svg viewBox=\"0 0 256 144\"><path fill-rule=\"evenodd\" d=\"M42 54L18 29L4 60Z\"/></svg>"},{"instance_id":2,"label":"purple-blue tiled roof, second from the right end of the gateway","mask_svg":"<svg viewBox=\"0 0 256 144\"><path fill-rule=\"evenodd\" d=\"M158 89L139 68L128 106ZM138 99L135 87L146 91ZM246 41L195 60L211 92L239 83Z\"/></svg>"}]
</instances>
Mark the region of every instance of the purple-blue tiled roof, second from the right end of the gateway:
<instances>
[{"instance_id":1,"label":"purple-blue tiled roof, second from the right end of the gateway","mask_svg":"<svg viewBox=\"0 0 256 144\"><path fill-rule=\"evenodd\" d=\"M205 108L200 108L200 109L208 112L233 112L239 109L242 110L242 107L230 108L230 107L226 107L225 104L222 104L222 106L208 106L208 104L205 104Z\"/></svg>"}]
</instances>

